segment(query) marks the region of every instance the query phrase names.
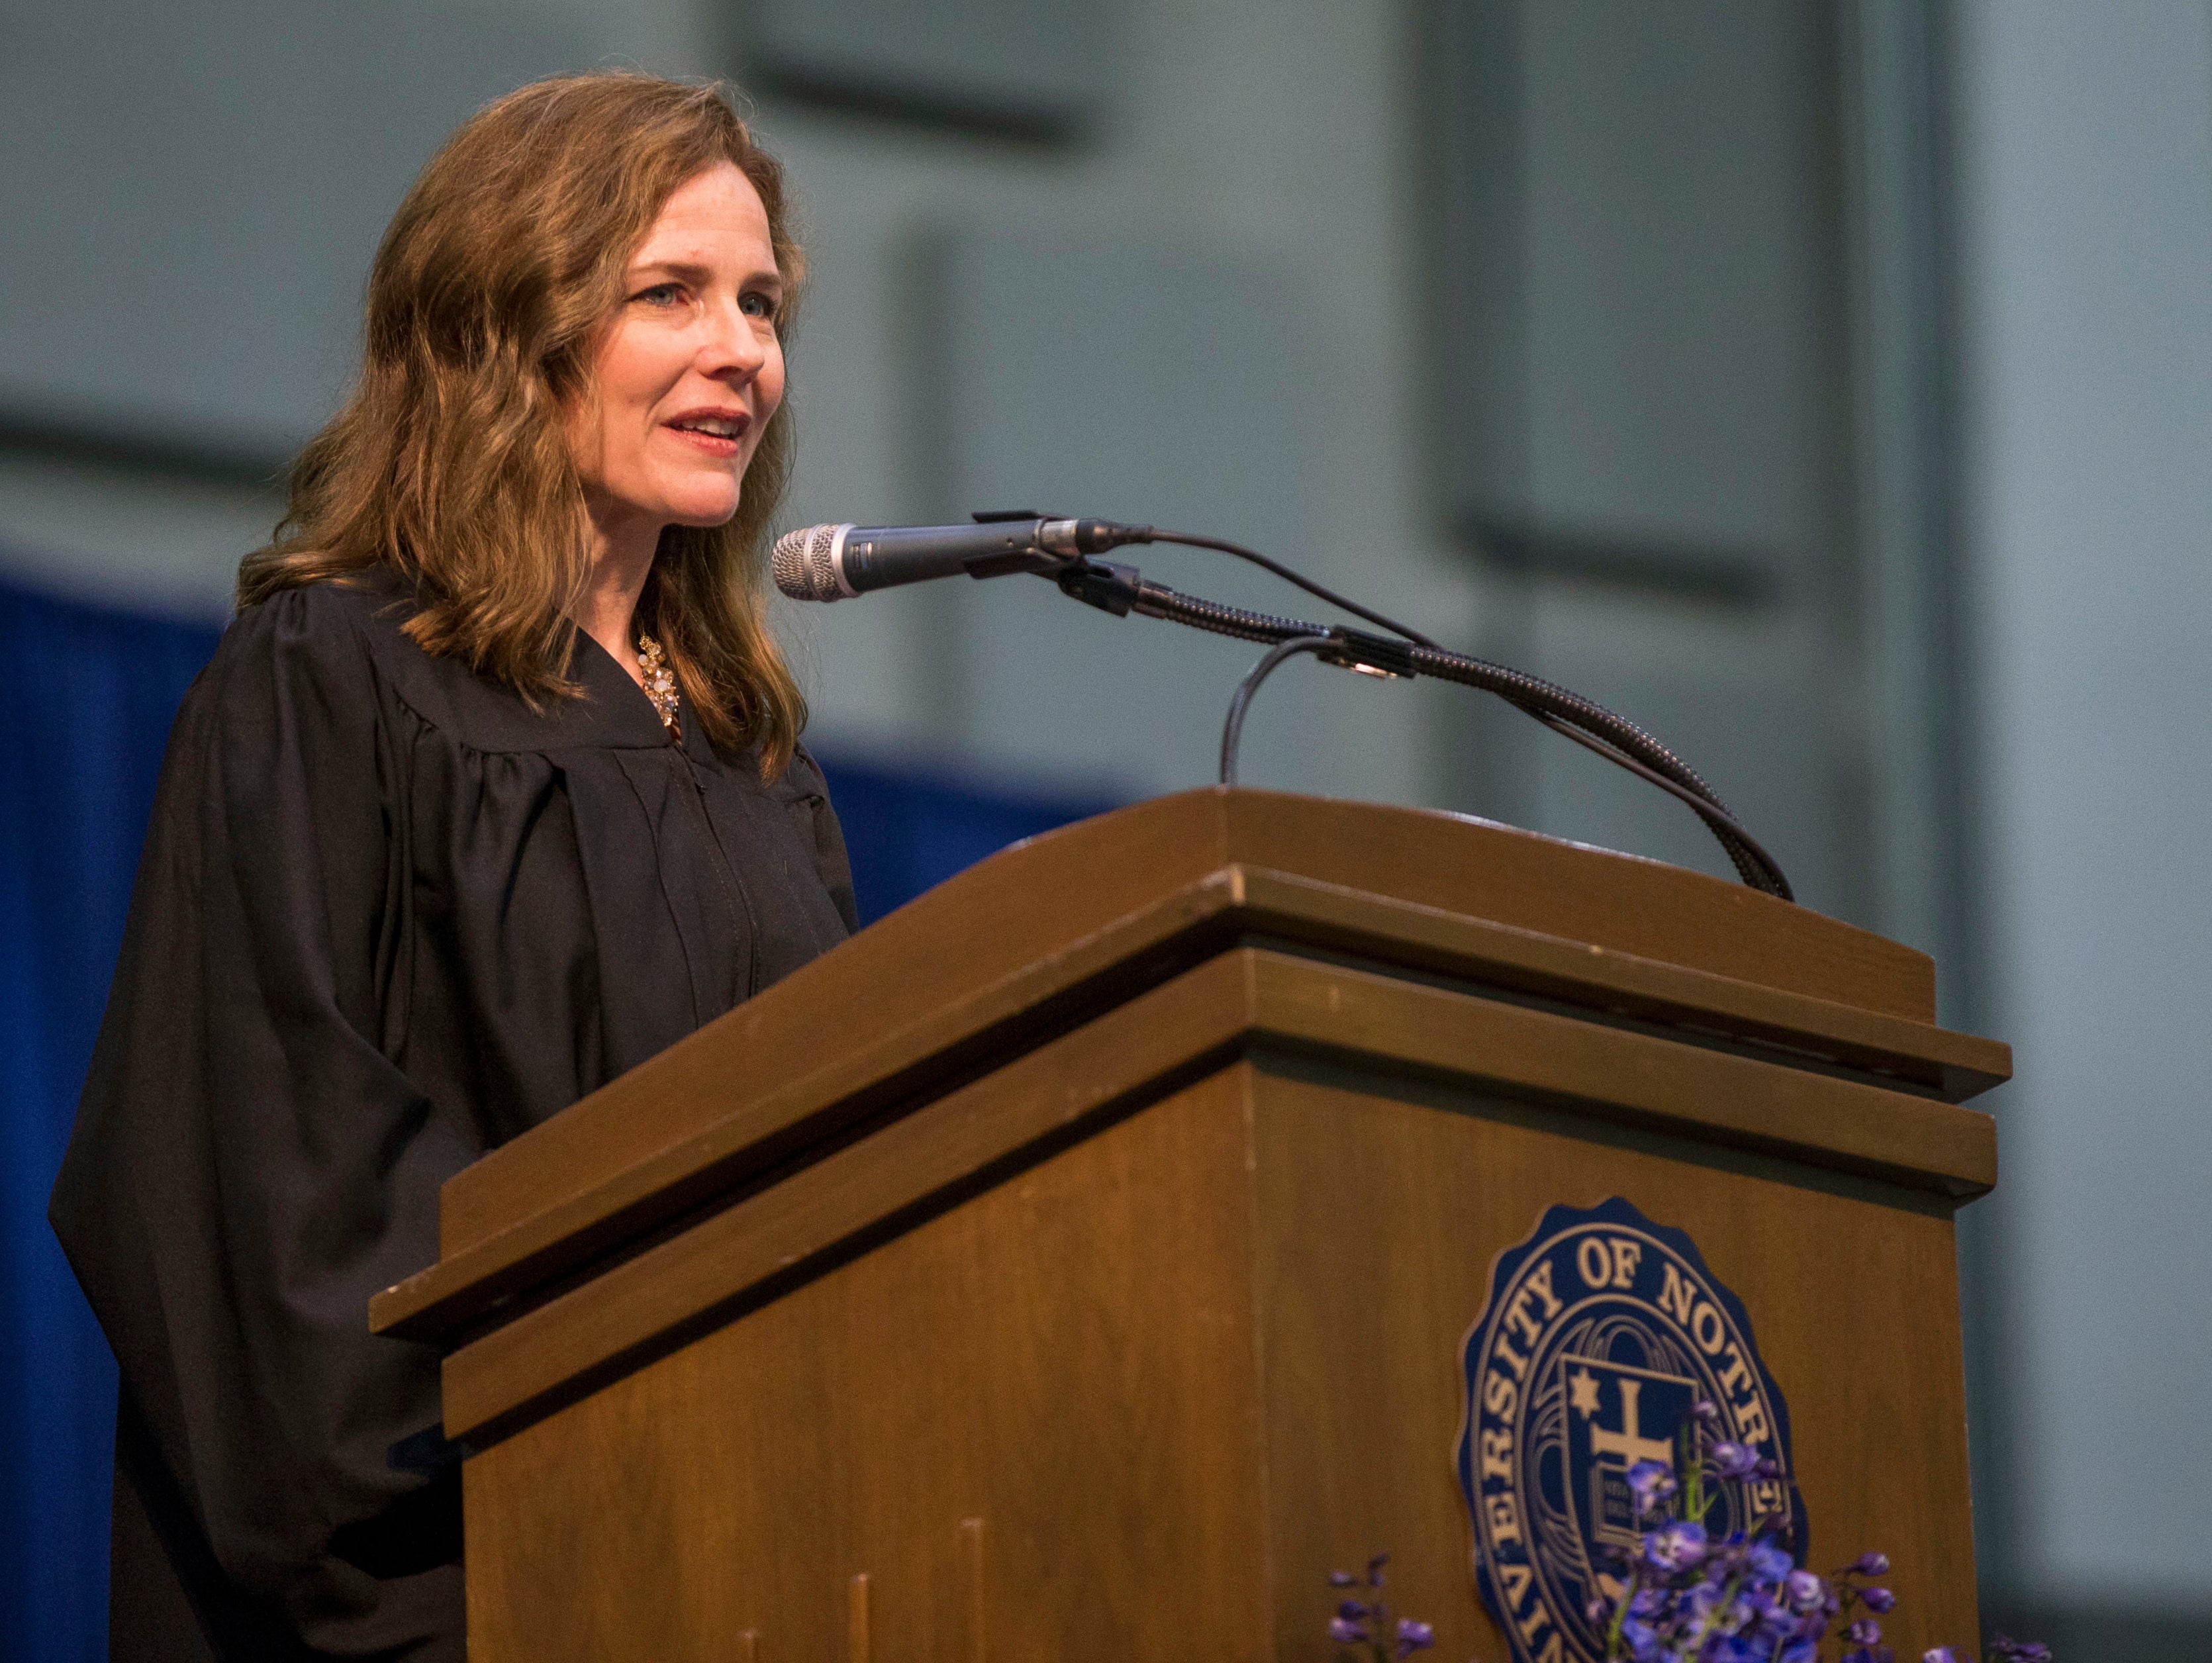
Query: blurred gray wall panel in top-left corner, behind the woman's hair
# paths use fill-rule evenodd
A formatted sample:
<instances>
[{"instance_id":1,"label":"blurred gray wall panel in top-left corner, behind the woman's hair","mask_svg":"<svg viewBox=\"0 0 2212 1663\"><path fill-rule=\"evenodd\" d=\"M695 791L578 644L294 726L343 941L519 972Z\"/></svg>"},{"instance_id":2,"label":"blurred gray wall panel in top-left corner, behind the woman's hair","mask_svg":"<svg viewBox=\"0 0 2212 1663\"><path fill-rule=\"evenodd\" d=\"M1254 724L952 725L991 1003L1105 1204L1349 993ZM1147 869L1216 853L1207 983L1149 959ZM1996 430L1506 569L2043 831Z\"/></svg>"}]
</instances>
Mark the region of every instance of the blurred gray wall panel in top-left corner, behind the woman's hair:
<instances>
[{"instance_id":1,"label":"blurred gray wall panel in top-left corner, behind the woman's hair","mask_svg":"<svg viewBox=\"0 0 2212 1663\"><path fill-rule=\"evenodd\" d=\"M520 4L11 7L0 409L285 456L354 360L376 237L478 104L615 46Z\"/></svg>"}]
</instances>

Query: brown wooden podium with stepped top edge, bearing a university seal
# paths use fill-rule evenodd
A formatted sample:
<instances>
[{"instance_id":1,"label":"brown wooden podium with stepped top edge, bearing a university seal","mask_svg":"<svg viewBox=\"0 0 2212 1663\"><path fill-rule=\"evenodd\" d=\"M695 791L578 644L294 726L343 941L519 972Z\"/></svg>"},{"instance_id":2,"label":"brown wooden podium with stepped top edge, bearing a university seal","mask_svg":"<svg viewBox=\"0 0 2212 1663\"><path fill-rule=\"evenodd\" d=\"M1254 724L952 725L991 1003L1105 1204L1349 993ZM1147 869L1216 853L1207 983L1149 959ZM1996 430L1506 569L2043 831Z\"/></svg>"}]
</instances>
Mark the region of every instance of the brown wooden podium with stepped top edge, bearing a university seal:
<instances>
[{"instance_id":1,"label":"brown wooden podium with stepped top edge, bearing a university seal","mask_svg":"<svg viewBox=\"0 0 2212 1663\"><path fill-rule=\"evenodd\" d=\"M1931 962L1444 814L1192 792L1009 849L456 1176L476 1663L1327 1659L1391 1550L1506 1663L1451 1448L1500 1249L1624 1196L1745 1303L1812 1561L1973 1643Z\"/></svg>"}]
</instances>

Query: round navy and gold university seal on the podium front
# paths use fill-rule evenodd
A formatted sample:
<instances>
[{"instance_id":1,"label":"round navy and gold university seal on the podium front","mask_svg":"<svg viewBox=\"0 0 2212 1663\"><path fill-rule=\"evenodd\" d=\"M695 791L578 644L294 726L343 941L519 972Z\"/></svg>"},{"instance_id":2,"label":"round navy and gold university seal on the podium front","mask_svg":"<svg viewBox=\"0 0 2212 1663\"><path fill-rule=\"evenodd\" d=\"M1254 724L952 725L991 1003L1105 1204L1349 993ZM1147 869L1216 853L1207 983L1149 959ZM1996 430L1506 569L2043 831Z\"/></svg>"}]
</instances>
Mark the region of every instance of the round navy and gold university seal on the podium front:
<instances>
[{"instance_id":1,"label":"round navy and gold university seal on the podium front","mask_svg":"<svg viewBox=\"0 0 2212 1663\"><path fill-rule=\"evenodd\" d=\"M1628 1468L1677 1460L1699 1400L1719 1435L1781 1477L1723 1484L1714 1535L1778 1515L1803 1552L1805 1502L1790 1466L1790 1411L1759 1362L1743 1305L1681 1230L1615 1196L1553 1207L1498 1256L1491 1300L1467 1336L1460 1488L1475 1524L1482 1599L1517 1663L1597 1663L1586 1617L1617 1592L1608 1548L1635 1548Z\"/></svg>"}]
</instances>

